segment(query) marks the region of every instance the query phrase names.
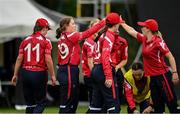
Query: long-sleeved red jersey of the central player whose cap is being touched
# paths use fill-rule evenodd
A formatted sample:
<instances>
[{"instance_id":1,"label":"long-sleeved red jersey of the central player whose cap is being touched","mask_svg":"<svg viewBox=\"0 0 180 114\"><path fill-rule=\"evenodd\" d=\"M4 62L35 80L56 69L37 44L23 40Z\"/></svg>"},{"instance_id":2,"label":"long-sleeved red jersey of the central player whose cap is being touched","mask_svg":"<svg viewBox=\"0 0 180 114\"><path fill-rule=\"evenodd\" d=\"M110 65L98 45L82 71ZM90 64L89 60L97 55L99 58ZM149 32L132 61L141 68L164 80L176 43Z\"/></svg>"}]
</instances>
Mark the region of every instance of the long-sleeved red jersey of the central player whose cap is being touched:
<instances>
[{"instance_id":1,"label":"long-sleeved red jersey of the central player whose cap is being touched","mask_svg":"<svg viewBox=\"0 0 180 114\"><path fill-rule=\"evenodd\" d=\"M107 31L106 33L101 35L97 44L95 45L94 63L102 63L106 79L112 79L111 50L114 44L114 35L115 34L113 32Z\"/></svg>"}]
</instances>

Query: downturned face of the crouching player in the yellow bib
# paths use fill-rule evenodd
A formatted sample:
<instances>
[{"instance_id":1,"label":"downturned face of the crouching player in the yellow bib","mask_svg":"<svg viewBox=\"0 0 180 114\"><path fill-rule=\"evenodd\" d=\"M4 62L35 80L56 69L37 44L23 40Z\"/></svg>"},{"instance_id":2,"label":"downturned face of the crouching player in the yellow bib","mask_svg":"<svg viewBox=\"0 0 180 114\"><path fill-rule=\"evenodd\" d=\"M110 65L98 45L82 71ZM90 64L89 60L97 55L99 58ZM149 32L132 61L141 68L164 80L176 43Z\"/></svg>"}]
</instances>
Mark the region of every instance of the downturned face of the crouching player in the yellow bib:
<instances>
[{"instance_id":1,"label":"downturned face of the crouching player in the yellow bib","mask_svg":"<svg viewBox=\"0 0 180 114\"><path fill-rule=\"evenodd\" d=\"M141 80L144 75L144 71L142 69L139 70L132 70L132 75L135 80Z\"/></svg>"}]
</instances>

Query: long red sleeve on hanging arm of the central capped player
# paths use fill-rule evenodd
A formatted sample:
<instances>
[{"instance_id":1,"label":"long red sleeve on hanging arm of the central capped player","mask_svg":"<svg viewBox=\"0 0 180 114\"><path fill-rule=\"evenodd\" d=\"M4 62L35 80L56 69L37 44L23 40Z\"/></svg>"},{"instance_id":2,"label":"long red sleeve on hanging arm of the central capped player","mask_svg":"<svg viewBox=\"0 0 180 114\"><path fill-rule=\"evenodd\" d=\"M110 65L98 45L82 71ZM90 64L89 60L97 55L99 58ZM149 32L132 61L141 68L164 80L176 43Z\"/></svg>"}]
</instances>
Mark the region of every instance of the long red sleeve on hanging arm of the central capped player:
<instances>
[{"instance_id":1,"label":"long red sleeve on hanging arm of the central capped player","mask_svg":"<svg viewBox=\"0 0 180 114\"><path fill-rule=\"evenodd\" d=\"M113 42L105 36L102 47L102 65L106 79L112 79L112 67L110 65Z\"/></svg>"}]
</instances>

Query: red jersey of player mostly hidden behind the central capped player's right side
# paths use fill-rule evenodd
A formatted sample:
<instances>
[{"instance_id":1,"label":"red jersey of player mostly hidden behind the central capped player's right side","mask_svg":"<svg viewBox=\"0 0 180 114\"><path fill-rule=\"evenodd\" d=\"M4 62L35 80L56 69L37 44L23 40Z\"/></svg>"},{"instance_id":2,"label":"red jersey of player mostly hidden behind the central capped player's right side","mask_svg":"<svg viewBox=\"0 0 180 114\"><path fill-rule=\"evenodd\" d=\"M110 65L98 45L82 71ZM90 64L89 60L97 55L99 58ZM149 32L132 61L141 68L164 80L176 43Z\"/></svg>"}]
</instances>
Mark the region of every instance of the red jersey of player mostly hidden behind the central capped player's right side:
<instances>
[{"instance_id":1,"label":"red jersey of player mostly hidden behind the central capped player's right side","mask_svg":"<svg viewBox=\"0 0 180 114\"><path fill-rule=\"evenodd\" d=\"M115 38L111 58L113 66L118 65L122 60L128 58L128 43L119 35Z\"/></svg>"}]
</instances>

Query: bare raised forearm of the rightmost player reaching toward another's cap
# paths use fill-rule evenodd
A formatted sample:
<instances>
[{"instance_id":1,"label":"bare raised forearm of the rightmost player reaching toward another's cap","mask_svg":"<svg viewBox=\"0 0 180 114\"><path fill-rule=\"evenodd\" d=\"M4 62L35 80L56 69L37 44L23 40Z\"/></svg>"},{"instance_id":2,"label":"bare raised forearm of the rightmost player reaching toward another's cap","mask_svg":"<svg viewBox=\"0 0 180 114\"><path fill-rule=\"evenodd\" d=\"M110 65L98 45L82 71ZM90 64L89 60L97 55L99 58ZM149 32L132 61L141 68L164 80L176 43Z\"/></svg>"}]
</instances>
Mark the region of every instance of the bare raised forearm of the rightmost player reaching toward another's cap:
<instances>
[{"instance_id":1,"label":"bare raised forearm of the rightmost player reaching toward another's cap","mask_svg":"<svg viewBox=\"0 0 180 114\"><path fill-rule=\"evenodd\" d=\"M137 31L126 23L121 23L121 26L130 34L132 37L137 38Z\"/></svg>"}]
</instances>

